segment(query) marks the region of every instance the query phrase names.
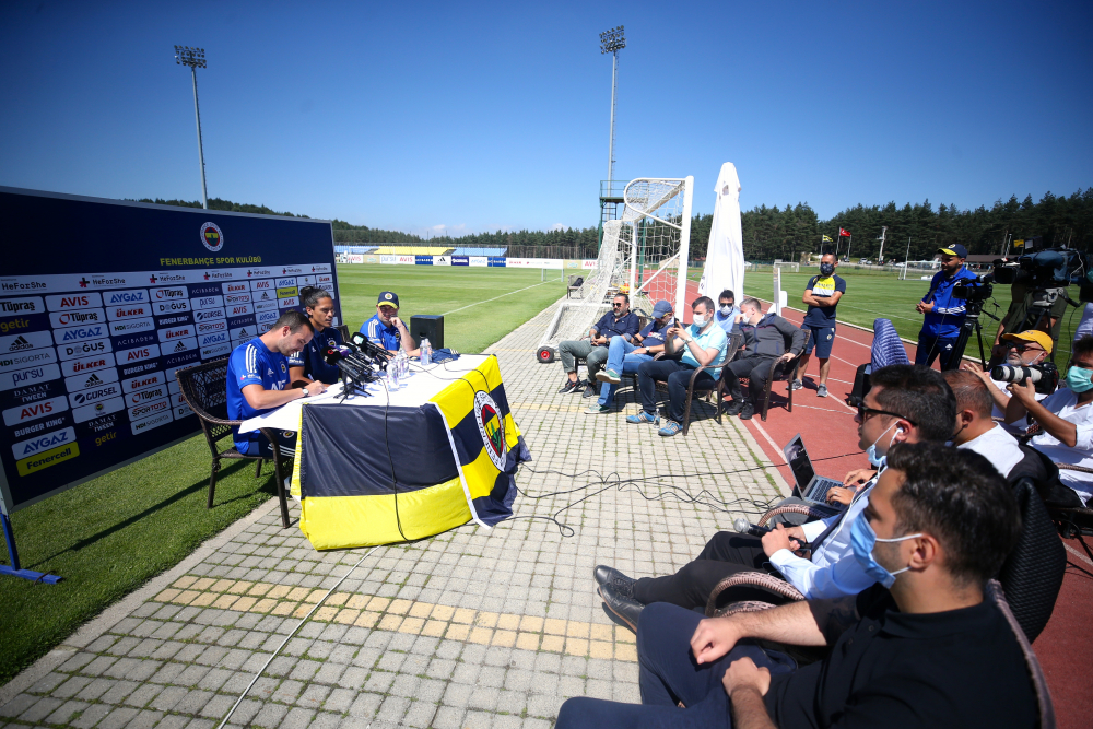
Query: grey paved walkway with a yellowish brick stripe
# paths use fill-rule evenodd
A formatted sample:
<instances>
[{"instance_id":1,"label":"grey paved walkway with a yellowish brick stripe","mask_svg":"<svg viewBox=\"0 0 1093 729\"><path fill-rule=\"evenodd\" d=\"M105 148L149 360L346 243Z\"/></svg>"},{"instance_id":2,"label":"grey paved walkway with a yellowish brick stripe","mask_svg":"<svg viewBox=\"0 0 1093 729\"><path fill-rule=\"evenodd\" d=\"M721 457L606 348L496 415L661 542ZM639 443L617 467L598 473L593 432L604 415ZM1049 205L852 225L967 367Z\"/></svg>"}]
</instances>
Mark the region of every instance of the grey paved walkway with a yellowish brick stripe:
<instances>
[{"instance_id":1,"label":"grey paved walkway with a yellowish brick stripe","mask_svg":"<svg viewBox=\"0 0 1093 729\"><path fill-rule=\"evenodd\" d=\"M534 457L518 518L319 553L270 502L0 689L0 729L216 727L319 602L231 726L545 729L569 696L639 701L634 636L604 613L592 567L674 571L786 484L739 420L703 404L686 438L585 415L592 400L556 395L561 367L534 361L551 313L489 350ZM634 395L620 392L625 412ZM604 487L591 471L643 481L561 512ZM685 503L669 484L709 493Z\"/></svg>"}]
</instances>

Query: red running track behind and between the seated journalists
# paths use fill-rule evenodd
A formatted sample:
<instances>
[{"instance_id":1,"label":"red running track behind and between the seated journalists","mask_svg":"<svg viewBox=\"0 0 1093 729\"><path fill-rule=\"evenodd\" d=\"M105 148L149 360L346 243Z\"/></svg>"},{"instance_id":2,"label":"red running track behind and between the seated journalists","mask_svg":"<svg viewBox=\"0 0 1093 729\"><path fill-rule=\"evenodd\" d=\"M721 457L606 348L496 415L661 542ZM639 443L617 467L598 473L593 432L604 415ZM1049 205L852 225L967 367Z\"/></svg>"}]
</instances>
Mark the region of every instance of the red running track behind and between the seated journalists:
<instances>
[{"instance_id":1,"label":"red running track behind and between the seated journalists","mask_svg":"<svg viewBox=\"0 0 1093 729\"><path fill-rule=\"evenodd\" d=\"M690 283L687 301L694 301L697 295L697 284ZM784 308L783 316L799 325L804 313ZM684 320L690 322L690 319L687 309ZM794 393L792 413L786 410L787 384L775 383L767 421L764 423L759 414L744 421L767 457L783 462L781 446L800 433L809 455L818 461L815 468L821 475L842 479L851 469L869 466L858 448L855 410L846 404L846 398L858 365L869 361L872 341L872 331L838 325L827 377L830 397L816 397L820 365L813 355L803 376L804 388ZM906 343L904 346L914 361L915 346ZM779 470L787 483L794 482L788 466L779 467ZM1093 562L1085 557L1077 540L1066 540L1066 543L1069 564L1062 590L1051 620L1033 647L1047 677L1059 728L1081 729L1090 726L1090 716L1093 716L1093 680L1085 668L1088 657L1093 655L1093 619L1090 613L1093 605Z\"/></svg>"}]
</instances>

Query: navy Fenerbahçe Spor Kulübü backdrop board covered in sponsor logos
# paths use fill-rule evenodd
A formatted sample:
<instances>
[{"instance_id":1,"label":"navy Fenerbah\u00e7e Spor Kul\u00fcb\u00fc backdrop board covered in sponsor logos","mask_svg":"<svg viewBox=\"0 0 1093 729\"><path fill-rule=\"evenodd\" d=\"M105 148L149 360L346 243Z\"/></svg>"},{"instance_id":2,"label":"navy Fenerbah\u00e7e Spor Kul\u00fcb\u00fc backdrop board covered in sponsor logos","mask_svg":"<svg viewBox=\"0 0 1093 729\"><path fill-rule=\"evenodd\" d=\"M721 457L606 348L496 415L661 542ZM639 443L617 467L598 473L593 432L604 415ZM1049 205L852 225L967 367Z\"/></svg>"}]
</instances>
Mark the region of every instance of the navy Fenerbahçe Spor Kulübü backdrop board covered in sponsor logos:
<instances>
[{"instance_id":1,"label":"navy Fenerbah\u00e7e Spor Kul\u00fcb\u00fc backdrop board covered in sponsor logos","mask_svg":"<svg viewBox=\"0 0 1093 729\"><path fill-rule=\"evenodd\" d=\"M175 372L334 296L330 223L0 187L0 506L200 431Z\"/></svg>"}]
</instances>

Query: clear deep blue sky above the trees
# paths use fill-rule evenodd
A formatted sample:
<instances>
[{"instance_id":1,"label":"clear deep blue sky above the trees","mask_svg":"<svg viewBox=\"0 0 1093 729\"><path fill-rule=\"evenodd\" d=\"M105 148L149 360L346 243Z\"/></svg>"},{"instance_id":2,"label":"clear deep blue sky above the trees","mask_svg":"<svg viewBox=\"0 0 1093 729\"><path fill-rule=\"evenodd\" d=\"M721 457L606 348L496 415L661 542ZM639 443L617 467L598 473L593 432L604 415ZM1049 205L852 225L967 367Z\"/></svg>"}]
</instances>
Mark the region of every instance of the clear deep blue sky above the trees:
<instances>
[{"instance_id":1,"label":"clear deep blue sky above the trees","mask_svg":"<svg viewBox=\"0 0 1093 729\"><path fill-rule=\"evenodd\" d=\"M1089 2L0 3L0 185L424 234L583 227L607 176L741 204L961 208L1093 185ZM443 227L440 227L443 226Z\"/></svg>"}]
</instances>

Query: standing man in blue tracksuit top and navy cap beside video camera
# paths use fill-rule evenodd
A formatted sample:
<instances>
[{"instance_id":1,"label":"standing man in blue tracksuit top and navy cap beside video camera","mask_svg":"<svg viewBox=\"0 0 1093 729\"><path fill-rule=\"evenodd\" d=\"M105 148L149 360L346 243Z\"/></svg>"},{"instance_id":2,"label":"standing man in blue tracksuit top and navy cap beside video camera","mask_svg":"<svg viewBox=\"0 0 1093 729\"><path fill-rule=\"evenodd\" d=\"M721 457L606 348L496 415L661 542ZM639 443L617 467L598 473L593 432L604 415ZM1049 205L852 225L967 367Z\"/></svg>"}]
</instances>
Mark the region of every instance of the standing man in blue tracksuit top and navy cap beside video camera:
<instances>
[{"instance_id":1,"label":"standing man in blue tracksuit top and navy cap beside video camera","mask_svg":"<svg viewBox=\"0 0 1093 729\"><path fill-rule=\"evenodd\" d=\"M975 274L964 268L967 249L959 243L949 248L938 248L941 254L941 270L930 281L930 290L915 309L925 315L922 330L918 332L918 351L915 364L933 364L941 357L941 368L949 369L953 345L960 337L966 310L964 299L953 296L953 286L961 280L975 280Z\"/></svg>"}]
</instances>

